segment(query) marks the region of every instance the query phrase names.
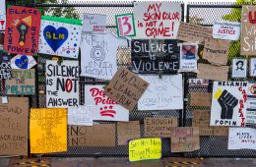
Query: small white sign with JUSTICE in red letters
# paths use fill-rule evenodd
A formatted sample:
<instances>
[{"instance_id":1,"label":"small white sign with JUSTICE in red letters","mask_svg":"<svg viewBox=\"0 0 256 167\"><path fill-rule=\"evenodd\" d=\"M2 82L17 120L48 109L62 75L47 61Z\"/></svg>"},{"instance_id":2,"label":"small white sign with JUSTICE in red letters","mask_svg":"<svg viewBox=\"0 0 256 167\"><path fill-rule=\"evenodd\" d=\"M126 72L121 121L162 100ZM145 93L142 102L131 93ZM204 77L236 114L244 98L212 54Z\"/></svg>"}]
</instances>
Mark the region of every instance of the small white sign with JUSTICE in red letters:
<instances>
[{"instance_id":1,"label":"small white sign with JUSTICE in red letters","mask_svg":"<svg viewBox=\"0 0 256 167\"><path fill-rule=\"evenodd\" d=\"M240 27L239 22L216 21L213 27L213 37L216 39L238 40Z\"/></svg>"}]
</instances>

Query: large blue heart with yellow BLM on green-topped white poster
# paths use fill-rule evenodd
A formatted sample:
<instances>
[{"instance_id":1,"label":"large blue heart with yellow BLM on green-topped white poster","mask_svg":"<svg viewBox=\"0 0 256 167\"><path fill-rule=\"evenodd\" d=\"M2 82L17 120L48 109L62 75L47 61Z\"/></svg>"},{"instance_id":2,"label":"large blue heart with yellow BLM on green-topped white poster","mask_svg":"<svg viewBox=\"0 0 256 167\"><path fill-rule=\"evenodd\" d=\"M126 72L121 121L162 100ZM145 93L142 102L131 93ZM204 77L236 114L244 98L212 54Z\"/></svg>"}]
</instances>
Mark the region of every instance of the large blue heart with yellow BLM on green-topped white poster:
<instances>
[{"instance_id":1,"label":"large blue heart with yellow BLM on green-topped white poster","mask_svg":"<svg viewBox=\"0 0 256 167\"><path fill-rule=\"evenodd\" d=\"M67 28L56 29L53 26L47 26L43 29L43 37L54 52L67 40L68 35Z\"/></svg>"}]
</instances>

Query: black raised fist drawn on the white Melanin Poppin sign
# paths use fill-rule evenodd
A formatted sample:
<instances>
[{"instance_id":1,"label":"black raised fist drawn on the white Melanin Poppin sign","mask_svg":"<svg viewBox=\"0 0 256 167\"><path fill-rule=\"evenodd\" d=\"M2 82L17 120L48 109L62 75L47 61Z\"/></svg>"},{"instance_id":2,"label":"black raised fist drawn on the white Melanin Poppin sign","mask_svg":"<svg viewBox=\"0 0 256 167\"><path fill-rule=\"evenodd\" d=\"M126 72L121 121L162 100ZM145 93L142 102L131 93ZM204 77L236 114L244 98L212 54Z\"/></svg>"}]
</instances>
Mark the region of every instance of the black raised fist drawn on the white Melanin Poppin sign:
<instances>
[{"instance_id":1,"label":"black raised fist drawn on the white Melanin Poppin sign","mask_svg":"<svg viewBox=\"0 0 256 167\"><path fill-rule=\"evenodd\" d=\"M224 89L218 102L222 107L221 119L232 119L233 108L238 104L238 99Z\"/></svg>"}]
</instances>

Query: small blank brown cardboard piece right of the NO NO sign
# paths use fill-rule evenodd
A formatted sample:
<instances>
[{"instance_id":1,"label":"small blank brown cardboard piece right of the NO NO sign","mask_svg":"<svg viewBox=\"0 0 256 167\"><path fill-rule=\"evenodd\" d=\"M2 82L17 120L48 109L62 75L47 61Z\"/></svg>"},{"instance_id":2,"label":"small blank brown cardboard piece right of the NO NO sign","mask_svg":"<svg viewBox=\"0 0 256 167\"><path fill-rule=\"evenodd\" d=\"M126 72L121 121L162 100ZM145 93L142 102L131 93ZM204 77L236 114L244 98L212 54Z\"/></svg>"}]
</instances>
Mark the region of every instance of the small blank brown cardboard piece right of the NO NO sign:
<instances>
[{"instance_id":1,"label":"small blank brown cardboard piece right of the NO NO sign","mask_svg":"<svg viewBox=\"0 0 256 167\"><path fill-rule=\"evenodd\" d=\"M117 144L125 145L130 139L141 138L140 122L117 123Z\"/></svg>"}]
</instances>

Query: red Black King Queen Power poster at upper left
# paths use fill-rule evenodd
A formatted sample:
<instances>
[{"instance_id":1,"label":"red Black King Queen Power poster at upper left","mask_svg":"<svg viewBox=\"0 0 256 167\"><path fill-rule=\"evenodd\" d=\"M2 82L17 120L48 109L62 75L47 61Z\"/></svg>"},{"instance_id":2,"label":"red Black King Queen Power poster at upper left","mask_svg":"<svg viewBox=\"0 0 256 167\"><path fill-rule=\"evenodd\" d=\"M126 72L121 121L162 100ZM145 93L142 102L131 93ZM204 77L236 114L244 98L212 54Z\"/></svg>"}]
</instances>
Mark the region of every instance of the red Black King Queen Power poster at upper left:
<instances>
[{"instance_id":1,"label":"red Black King Queen Power poster at upper left","mask_svg":"<svg viewBox=\"0 0 256 167\"><path fill-rule=\"evenodd\" d=\"M2 5L2 4L1 4ZM33 55L38 50L41 14L35 8L7 9L4 49L9 53Z\"/></svg>"}]
</instances>

